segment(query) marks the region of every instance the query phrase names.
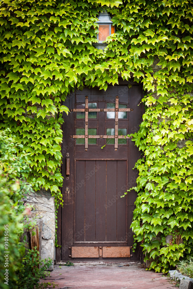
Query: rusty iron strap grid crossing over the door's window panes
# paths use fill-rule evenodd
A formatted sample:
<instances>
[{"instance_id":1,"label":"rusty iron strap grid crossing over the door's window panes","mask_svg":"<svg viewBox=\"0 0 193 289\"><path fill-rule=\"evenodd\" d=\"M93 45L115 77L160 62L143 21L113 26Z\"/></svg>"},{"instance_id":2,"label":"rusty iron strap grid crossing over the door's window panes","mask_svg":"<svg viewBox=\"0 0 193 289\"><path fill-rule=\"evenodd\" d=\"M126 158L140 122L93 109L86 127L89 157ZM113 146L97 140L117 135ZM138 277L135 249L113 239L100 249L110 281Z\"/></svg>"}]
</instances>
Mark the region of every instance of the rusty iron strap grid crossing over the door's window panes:
<instances>
[{"instance_id":1,"label":"rusty iron strap grid crossing over the door's window panes","mask_svg":"<svg viewBox=\"0 0 193 289\"><path fill-rule=\"evenodd\" d=\"M85 151L88 149L88 138L114 138L115 139L115 151L118 149L119 138L129 138L128 136L118 135L118 114L119 112L130 112L133 108L119 108L119 97L115 98L115 108L88 108L88 96L85 97L85 108L70 109L72 112L85 112L85 135L73 135L73 138L85 138ZM115 135L88 135L88 113L89 112L115 112Z\"/></svg>"}]
</instances>

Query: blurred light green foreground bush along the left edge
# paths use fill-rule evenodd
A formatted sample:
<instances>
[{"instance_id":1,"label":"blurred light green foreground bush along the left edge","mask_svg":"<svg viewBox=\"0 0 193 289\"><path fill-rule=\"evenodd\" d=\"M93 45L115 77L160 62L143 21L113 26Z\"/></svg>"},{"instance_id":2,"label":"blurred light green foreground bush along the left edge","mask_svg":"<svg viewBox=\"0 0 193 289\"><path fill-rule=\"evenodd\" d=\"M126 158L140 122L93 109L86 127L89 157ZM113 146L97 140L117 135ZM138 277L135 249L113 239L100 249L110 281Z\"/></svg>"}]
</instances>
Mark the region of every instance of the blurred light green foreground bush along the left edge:
<instances>
[{"instance_id":1,"label":"blurred light green foreground bush along the left edge","mask_svg":"<svg viewBox=\"0 0 193 289\"><path fill-rule=\"evenodd\" d=\"M21 144L15 142L10 130L0 131L0 250L8 251L9 267L4 267L5 257L0 255L0 278L3 288L5 268L9 269L9 284L16 281L14 272L20 266L19 258L25 252L19 237L23 232L23 203L20 202L23 192L30 192L32 186L23 181L30 168L25 151L16 154L16 147L22 149ZM5 227L6 226L6 227ZM5 228L8 228L8 243L5 244ZM6 230L6 231L7 231ZM7 239L6 239L7 240ZM8 247L5 247L7 246Z\"/></svg>"}]
</instances>

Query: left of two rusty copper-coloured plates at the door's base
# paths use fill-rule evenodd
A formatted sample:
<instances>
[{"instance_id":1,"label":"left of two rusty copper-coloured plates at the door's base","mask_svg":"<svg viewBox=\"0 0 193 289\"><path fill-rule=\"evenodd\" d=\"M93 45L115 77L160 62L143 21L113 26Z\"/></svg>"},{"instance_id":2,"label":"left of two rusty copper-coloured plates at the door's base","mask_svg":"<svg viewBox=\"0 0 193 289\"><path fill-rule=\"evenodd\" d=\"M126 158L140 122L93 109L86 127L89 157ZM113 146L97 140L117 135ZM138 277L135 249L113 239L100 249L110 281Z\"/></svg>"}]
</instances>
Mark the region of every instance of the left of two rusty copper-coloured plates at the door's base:
<instances>
[{"instance_id":1,"label":"left of two rusty copper-coloured plates at the door's base","mask_svg":"<svg viewBox=\"0 0 193 289\"><path fill-rule=\"evenodd\" d=\"M72 247L72 258L98 258L99 247Z\"/></svg>"}]
</instances>

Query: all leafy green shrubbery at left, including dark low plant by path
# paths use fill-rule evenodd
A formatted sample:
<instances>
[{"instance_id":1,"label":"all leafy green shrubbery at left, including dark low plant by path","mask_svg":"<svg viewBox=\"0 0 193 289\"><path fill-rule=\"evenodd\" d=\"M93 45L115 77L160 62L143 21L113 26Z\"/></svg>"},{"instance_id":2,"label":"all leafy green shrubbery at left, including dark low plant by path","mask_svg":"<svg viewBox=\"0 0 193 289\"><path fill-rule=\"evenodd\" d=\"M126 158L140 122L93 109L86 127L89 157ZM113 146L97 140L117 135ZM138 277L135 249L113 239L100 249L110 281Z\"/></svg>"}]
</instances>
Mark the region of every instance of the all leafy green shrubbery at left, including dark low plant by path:
<instances>
[{"instance_id":1,"label":"all leafy green shrubbery at left, including dark low plant by path","mask_svg":"<svg viewBox=\"0 0 193 289\"><path fill-rule=\"evenodd\" d=\"M43 269L39 270L37 251L29 251L27 256L24 256L25 247L20 242L24 227L22 223L24 206L20 200L26 192L32 191L32 185L24 181L30 173L30 167L28 154L22 151L23 146L15 141L15 137L8 135L10 135L9 129L0 131L0 250L2 252L0 254L0 281L2 288L7 289L8 286L17 288L16 284L19 284L18 288L22 289L30 288L29 284L26 287L22 279L25 279L25 276L29 279L31 272L31 278L38 280L42 275L42 270L46 268L46 261L41 261ZM5 243L5 237L8 243ZM4 266L5 254L9 257L8 267ZM32 269L33 266L34 269ZM6 281L5 269L8 269L8 284L4 283ZM25 287L22 287L24 286L22 284Z\"/></svg>"}]
</instances>

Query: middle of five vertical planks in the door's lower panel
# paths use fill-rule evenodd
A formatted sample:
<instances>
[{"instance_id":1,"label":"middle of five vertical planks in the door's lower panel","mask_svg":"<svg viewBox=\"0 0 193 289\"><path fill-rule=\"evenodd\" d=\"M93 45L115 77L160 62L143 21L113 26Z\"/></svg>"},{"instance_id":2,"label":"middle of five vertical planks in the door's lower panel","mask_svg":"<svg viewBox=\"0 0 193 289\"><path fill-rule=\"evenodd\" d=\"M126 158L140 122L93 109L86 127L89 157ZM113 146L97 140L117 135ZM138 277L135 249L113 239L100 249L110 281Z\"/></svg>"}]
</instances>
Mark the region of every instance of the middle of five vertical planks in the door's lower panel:
<instances>
[{"instance_id":1,"label":"middle of five vertical planks in the door's lower panel","mask_svg":"<svg viewBox=\"0 0 193 289\"><path fill-rule=\"evenodd\" d=\"M96 241L106 241L106 161L96 161Z\"/></svg>"}]
</instances>

